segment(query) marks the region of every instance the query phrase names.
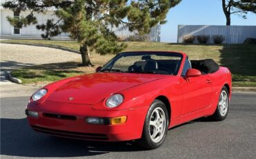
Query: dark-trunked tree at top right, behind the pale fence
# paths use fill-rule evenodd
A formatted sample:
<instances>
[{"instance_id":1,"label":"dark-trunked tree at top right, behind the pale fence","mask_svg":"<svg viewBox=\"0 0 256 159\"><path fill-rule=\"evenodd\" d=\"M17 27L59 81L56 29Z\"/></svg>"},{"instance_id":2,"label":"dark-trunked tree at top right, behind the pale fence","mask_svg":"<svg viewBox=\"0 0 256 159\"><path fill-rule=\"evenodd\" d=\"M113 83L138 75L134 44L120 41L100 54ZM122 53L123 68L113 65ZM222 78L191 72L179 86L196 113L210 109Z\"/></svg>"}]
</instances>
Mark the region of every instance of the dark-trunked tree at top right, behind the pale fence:
<instances>
[{"instance_id":1,"label":"dark-trunked tree at top right, behind the pale fence","mask_svg":"<svg viewBox=\"0 0 256 159\"><path fill-rule=\"evenodd\" d=\"M222 0L222 8L226 17L226 26L230 26L232 14L246 19L248 12L256 13L256 0Z\"/></svg>"}]
</instances>

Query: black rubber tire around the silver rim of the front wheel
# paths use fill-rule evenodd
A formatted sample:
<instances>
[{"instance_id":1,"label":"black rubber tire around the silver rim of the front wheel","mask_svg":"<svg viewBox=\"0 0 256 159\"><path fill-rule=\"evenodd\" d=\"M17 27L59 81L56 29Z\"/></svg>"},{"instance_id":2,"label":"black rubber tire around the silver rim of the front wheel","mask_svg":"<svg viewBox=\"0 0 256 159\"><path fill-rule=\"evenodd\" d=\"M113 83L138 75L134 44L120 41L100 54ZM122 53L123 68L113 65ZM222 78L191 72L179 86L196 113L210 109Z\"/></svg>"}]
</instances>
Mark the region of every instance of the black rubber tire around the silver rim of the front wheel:
<instances>
[{"instance_id":1,"label":"black rubber tire around the silver rim of the front wheel","mask_svg":"<svg viewBox=\"0 0 256 159\"><path fill-rule=\"evenodd\" d=\"M162 125L165 125L165 128L163 130L163 136L158 137L158 142L154 142L150 136L151 133L151 127L149 126L149 121L152 118L152 113L154 113L154 111L161 111L163 110L163 113L165 114L165 116L162 116L163 118L165 117L165 122ZM162 122L163 123L163 122ZM160 123L161 124L161 123ZM169 115L167 113L167 109L165 107L165 104L163 102L161 102L160 100L154 100L154 102L151 104L149 111L147 111L147 116L145 118L145 122L144 122L144 127L143 127L143 135L142 138L140 138L140 140L137 141L138 146L142 147L143 149L156 149L158 147L160 147L164 140L165 137L167 135L167 131L168 131L168 125L169 125Z\"/></svg>"}]
</instances>

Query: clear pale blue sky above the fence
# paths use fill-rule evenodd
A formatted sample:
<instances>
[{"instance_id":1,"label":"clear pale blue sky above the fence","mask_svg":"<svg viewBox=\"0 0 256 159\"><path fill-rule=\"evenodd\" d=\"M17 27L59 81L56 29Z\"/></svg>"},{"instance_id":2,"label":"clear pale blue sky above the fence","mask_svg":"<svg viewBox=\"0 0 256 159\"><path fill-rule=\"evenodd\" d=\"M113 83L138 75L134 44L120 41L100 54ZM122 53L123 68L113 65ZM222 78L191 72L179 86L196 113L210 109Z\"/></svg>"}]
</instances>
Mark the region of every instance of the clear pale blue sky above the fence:
<instances>
[{"instance_id":1,"label":"clear pale blue sky above the fence","mask_svg":"<svg viewBox=\"0 0 256 159\"><path fill-rule=\"evenodd\" d=\"M161 41L176 42L179 24L226 25L221 0L182 0L168 12L167 23L161 26ZM231 25L256 26L256 14L248 13L247 19L232 15Z\"/></svg>"}]
</instances>

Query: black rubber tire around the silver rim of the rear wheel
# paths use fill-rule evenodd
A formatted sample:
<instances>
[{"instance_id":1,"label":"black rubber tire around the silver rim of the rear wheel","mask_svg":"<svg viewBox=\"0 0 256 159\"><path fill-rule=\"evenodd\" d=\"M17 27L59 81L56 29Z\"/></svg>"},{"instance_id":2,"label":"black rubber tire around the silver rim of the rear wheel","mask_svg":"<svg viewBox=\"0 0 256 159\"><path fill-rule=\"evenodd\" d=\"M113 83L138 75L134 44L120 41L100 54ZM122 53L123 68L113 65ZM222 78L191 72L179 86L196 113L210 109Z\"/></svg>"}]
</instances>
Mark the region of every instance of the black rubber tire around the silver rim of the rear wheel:
<instances>
[{"instance_id":1,"label":"black rubber tire around the silver rim of the rear wheel","mask_svg":"<svg viewBox=\"0 0 256 159\"><path fill-rule=\"evenodd\" d=\"M221 93L222 93L223 91L226 92L226 95L228 95L226 113L225 113L224 115L221 114L220 105L219 105L219 101L218 101L216 110L215 110L214 114L210 116L210 120L213 120L213 121L222 121L222 120L225 120L225 119L227 118L227 116L228 116L228 109L229 109L229 94L228 94L228 88L226 88L226 86L223 86L222 89L221 89ZM221 93L219 93L219 100L220 100L220 98L221 98Z\"/></svg>"}]
</instances>

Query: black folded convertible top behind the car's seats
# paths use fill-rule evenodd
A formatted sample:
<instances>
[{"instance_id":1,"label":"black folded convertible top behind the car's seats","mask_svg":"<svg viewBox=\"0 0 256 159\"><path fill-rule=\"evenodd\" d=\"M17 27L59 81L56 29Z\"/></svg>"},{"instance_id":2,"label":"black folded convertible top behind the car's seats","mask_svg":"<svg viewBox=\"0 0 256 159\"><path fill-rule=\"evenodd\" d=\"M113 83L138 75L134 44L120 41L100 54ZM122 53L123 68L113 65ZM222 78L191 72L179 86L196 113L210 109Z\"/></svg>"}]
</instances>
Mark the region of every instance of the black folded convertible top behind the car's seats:
<instances>
[{"instance_id":1,"label":"black folded convertible top behind the car's seats","mask_svg":"<svg viewBox=\"0 0 256 159\"><path fill-rule=\"evenodd\" d=\"M191 60L191 65L203 74L215 73L219 70L219 65L213 59Z\"/></svg>"}]
</instances>

